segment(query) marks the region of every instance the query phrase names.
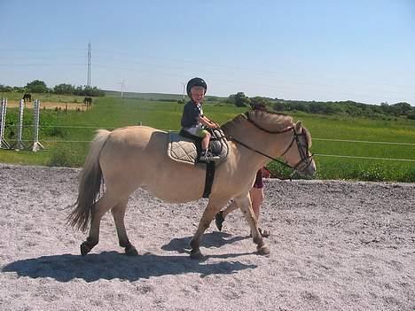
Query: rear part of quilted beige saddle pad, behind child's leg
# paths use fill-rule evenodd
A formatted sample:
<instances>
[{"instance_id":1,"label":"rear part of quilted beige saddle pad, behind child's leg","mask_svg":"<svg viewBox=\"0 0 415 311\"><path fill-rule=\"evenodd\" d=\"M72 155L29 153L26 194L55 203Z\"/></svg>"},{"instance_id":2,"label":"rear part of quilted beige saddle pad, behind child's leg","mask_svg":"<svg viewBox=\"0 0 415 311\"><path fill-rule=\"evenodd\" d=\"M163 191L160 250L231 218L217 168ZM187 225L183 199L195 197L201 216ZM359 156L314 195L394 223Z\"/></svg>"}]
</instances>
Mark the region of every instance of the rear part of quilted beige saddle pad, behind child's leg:
<instances>
[{"instance_id":1,"label":"rear part of quilted beige saddle pad, behind child's leg","mask_svg":"<svg viewBox=\"0 0 415 311\"><path fill-rule=\"evenodd\" d=\"M198 151L192 139L179 136L176 132L168 132L168 157L194 165Z\"/></svg>"}]
</instances>

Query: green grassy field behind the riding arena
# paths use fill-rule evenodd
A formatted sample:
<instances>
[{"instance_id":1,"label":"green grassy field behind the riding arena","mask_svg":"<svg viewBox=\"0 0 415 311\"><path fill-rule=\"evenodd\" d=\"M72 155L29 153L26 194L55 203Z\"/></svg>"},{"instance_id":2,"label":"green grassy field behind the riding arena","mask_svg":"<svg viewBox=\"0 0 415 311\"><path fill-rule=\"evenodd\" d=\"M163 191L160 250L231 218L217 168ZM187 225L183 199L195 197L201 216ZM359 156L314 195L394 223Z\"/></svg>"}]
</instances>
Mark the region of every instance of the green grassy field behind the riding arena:
<instances>
[{"instance_id":1,"label":"green grassy field behind the riding arena","mask_svg":"<svg viewBox=\"0 0 415 311\"><path fill-rule=\"evenodd\" d=\"M45 100L44 97L40 99ZM65 98L67 102L70 102L69 99ZM40 140L49 151L36 153L0 151L0 161L80 167L95 129L119 128L141 122L154 128L178 130L182 111L183 105L174 102L116 97L97 98L92 110L85 113L43 110ZM228 121L237 113L245 111L245 108L218 104L218 102L207 102L204 105L204 112L218 123ZM17 123L17 113L17 108L8 110L8 123ZM31 114L29 109L25 111L27 126L32 124ZM292 115L295 121L303 121L314 138L312 152L317 154L315 157L317 178L415 182L414 121L407 119L378 121L305 113ZM12 126L9 126L8 130L6 137L10 136ZM24 135L30 140L30 128L26 128ZM8 140L13 142L12 137ZM336 140L406 144L372 144ZM348 159L334 156L411 159L412 161ZM270 168L276 175L289 175L289 171L276 163L271 163Z\"/></svg>"}]
</instances>

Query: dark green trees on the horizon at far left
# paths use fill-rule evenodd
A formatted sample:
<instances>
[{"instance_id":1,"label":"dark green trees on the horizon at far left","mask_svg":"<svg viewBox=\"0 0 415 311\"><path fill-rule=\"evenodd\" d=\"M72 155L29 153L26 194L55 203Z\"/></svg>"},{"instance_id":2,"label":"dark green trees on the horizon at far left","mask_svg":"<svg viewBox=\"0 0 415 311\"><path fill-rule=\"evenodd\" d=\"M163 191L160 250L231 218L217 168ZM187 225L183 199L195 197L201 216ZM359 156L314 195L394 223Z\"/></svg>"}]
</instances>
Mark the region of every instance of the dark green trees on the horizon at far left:
<instances>
[{"instance_id":1,"label":"dark green trees on the horizon at far left","mask_svg":"<svg viewBox=\"0 0 415 311\"><path fill-rule=\"evenodd\" d=\"M40 80L28 82L24 87L10 87L0 84L0 92L16 92L16 93L51 93L58 95L78 95L88 97L102 97L105 92L97 87L90 86L74 86L67 83L55 85L48 88L46 83Z\"/></svg>"}]
</instances>

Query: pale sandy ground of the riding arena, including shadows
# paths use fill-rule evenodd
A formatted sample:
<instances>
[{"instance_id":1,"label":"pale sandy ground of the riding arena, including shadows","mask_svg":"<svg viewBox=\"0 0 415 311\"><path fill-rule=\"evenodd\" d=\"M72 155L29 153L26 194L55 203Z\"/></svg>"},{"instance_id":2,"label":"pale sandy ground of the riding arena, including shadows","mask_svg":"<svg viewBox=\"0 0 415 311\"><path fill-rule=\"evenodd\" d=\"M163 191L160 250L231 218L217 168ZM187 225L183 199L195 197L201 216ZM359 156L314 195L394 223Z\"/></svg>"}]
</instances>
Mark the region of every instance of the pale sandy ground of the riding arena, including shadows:
<instances>
[{"instance_id":1,"label":"pale sandy ground of the riding arena, including shadows","mask_svg":"<svg viewBox=\"0 0 415 311\"><path fill-rule=\"evenodd\" d=\"M172 205L138 190L121 254L106 215L100 243L65 226L76 198L69 168L0 164L1 310L415 310L415 184L266 181L254 253L237 212L212 224L207 260L186 249L206 200Z\"/></svg>"}]
</instances>

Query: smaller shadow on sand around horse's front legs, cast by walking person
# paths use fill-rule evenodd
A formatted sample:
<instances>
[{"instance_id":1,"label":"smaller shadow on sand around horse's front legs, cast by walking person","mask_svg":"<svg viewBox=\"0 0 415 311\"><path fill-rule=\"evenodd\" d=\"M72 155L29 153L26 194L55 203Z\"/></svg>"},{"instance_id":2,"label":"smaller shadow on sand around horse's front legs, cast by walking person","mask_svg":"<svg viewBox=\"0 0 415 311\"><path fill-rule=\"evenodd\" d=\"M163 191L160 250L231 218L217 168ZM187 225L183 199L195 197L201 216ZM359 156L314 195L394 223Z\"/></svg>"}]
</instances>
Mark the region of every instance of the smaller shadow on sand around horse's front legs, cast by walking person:
<instances>
[{"instance_id":1,"label":"smaller shadow on sand around horse's front legs, cast by walking person","mask_svg":"<svg viewBox=\"0 0 415 311\"><path fill-rule=\"evenodd\" d=\"M250 237L237 237L225 232L209 232L203 235L201 246L206 248L217 248L247 238ZM161 246L161 249L164 251L176 251L178 253L186 253L186 249L190 247L189 245L191 239L192 237L173 238L167 245Z\"/></svg>"}]
</instances>

